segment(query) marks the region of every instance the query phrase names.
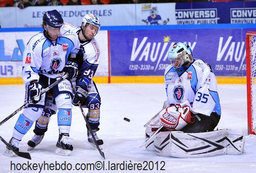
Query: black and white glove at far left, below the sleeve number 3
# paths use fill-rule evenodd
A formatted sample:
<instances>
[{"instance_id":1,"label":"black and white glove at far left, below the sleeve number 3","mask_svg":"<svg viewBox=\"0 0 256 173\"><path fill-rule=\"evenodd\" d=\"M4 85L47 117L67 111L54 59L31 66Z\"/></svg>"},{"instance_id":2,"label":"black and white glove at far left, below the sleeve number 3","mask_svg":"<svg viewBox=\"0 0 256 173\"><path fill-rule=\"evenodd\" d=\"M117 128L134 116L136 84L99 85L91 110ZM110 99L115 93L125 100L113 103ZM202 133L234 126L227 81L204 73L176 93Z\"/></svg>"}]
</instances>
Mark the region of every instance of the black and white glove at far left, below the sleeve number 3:
<instances>
[{"instance_id":1,"label":"black and white glove at far left, below the sleeve number 3","mask_svg":"<svg viewBox=\"0 0 256 173\"><path fill-rule=\"evenodd\" d=\"M38 84L38 82L30 82L29 86L29 98L32 99L32 102L34 104L38 103L41 99L40 93L41 93L41 89L42 86L40 84Z\"/></svg>"}]
</instances>

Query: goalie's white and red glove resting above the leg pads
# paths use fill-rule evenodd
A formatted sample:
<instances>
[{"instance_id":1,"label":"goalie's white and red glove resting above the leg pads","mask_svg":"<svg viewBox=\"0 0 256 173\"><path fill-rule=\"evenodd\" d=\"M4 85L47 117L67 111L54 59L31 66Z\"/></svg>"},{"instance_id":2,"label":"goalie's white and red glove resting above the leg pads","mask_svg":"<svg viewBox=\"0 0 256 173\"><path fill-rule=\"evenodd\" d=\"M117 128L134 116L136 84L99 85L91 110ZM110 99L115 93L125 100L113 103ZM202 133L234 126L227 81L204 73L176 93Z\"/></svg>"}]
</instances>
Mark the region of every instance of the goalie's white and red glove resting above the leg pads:
<instances>
[{"instance_id":1,"label":"goalie's white and red glove resting above the leg pads","mask_svg":"<svg viewBox=\"0 0 256 173\"><path fill-rule=\"evenodd\" d=\"M159 121L170 130L181 130L188 123L194 123L189 106L169 106L159 113Z\"/></svg>"}]
</instances>

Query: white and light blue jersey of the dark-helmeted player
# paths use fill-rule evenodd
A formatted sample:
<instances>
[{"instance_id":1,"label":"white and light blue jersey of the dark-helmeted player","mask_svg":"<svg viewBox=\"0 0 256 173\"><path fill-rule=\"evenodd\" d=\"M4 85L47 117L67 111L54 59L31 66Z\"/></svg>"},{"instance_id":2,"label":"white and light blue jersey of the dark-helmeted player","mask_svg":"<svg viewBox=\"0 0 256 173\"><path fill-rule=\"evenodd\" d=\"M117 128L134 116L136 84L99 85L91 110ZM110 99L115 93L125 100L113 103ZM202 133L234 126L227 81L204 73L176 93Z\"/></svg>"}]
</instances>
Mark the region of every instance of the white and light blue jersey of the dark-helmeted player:
<instances>
[{"instance_id":1,"label":"white and light blue jersey of the dark-helmeted player","mask_svg":"<svg viewBox=\"0 0 256 173\"><path fill-rule=\"evenodd\" d=\"M23 53L22 78L25 84L39 80L38 74L56 78L62 72L69 54L77 54L80 43L77 27L64 23L56 41L43 32L33 36Z\"/></svg>"}]
</instances>

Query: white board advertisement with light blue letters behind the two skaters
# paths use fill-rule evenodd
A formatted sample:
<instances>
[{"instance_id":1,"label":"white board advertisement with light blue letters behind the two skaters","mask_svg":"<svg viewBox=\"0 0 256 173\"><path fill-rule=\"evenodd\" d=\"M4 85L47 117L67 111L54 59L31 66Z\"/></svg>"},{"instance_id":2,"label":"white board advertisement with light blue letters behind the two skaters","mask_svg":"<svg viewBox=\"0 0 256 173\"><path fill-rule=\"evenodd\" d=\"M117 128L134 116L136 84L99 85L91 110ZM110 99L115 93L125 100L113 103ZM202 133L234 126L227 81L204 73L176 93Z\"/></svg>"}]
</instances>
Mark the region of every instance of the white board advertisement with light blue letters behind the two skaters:
<instances>
[{"instance_id":1,"label":"white board advertisement with light blue letters behind the two skaters","mask_svg":"<svg viewBox=\"0 0 256 173\"><path fill-rule=\"evenodd\" d=\"M0 32L0 77L21 77L23 51L29 39L38 32ZM107 76L107 31L99 31L95 39L99 43L101 56L96 76Z\"/></svg>"}]
</instances>

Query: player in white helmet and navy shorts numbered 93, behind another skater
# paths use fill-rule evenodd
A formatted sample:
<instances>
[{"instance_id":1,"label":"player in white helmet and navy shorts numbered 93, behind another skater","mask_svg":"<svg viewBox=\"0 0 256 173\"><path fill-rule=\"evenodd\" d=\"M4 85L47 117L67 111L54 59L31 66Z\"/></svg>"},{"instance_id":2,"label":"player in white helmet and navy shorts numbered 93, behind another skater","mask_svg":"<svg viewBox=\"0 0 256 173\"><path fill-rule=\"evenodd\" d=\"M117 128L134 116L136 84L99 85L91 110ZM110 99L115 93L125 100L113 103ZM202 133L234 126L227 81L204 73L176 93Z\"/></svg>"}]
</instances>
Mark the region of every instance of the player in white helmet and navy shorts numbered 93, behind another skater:
<instances>
[{"instance_id":1,"label":"player in white helmet and navy shorts numbered 93, behind another skater","mask_svg":"<svg viewBox=\"0 0 256 173\"><path fill-rule=\"evenodd\" d=\"M76 81L76 93L73 99L73 104L78 105L78 102L84 108L88 108L87 119L94 133L98 145L102 145L102 139L99 139L96 132L100 125L100 106L101 98L92 78L96 73L100 60L100 49L94 36L100 29L99 17L88 13L82 19L81 28L77 29L77 35L80 41L80 50L77 54L76 61L78 62L79 74ZM72 61L72 60L70 60ZM54 100L48 100L48 106L44 109L44 114L38 119L34 133L35 135L28 141L29 149L35 148L43 139L51 115L55 114L56 106ZM92 136L88 131L88 141L92 144Z\"/></svg>"}]
</instances>

